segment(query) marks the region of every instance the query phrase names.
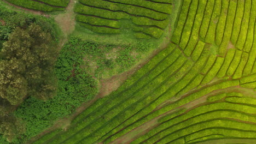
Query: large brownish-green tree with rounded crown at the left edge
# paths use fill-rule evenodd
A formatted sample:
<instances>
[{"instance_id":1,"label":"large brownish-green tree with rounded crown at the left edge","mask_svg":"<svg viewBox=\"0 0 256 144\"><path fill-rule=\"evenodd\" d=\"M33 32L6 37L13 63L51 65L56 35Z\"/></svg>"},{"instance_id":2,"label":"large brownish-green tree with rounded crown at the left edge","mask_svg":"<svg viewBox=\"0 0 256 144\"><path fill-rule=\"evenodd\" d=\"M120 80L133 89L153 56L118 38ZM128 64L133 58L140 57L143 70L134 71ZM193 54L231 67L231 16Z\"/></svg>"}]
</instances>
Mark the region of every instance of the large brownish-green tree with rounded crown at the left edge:
<instances>
[{"instance_id":1,"label":"large brownish-green tree with rounded crown at the left edge","mask_svg":"<svg viewBox=\"0 0 256 144\"><path fill-rule=\"evenodd\" d=\"M27 97L47 100L56 94L56 49L50 33L34 23L16 28L0 52L0 134L9 141L25 125L11 112Z\"/></svg>"}]
</instances>

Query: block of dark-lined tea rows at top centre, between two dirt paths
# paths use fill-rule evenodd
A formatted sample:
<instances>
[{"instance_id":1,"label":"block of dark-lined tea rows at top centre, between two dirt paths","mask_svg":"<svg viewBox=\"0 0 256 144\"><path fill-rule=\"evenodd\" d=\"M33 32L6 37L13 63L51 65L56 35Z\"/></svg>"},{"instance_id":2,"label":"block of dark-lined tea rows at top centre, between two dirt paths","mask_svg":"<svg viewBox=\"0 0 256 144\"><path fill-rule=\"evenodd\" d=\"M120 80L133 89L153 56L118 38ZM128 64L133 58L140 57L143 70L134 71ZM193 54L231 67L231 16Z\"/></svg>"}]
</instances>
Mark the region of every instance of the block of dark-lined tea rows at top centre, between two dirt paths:
<instances>
[{"instance_id":1,"label":"block of dark-lined tea rows at top centre, between two dirt paths","mask_svg":"<svg viewBox=\"0 0 256 144\"><path fill-rule=\"evenodd\" d=\"M80 25L97 33L133 31L136 38L160 38L169 22L171 2L128 0L80 0L75 6ZM124 19L132 23L125 24Z\"/></svg>"}]
</instances>

